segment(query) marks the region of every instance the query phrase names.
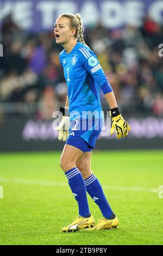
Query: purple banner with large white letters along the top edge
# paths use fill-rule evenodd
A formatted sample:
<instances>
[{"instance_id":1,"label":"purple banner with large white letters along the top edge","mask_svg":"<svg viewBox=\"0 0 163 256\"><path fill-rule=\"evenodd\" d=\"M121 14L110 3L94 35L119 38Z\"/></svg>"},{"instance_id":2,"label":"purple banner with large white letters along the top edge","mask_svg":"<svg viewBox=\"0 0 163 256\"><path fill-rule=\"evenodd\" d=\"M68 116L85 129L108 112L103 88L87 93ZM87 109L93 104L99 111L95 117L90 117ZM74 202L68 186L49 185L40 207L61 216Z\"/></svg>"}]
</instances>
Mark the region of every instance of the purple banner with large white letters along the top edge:
<instances>
[{"instance_id":1,"label":"purple banner with large white letters along the top edge","mask_svg":"<svg viewBox=\"0 0 163 256\"><path fill-rule=\"evenodd\" d=\"M25 31L50 31L62 13L82 14L85 26L101 21L110 29L126 24L141 26L148 14L156 22L163 22L162 0L108 0L108 1L53 1L53 0L0 0L0 25L5 16L12 14L14 21Z\"/></svg>"}]
</instances>

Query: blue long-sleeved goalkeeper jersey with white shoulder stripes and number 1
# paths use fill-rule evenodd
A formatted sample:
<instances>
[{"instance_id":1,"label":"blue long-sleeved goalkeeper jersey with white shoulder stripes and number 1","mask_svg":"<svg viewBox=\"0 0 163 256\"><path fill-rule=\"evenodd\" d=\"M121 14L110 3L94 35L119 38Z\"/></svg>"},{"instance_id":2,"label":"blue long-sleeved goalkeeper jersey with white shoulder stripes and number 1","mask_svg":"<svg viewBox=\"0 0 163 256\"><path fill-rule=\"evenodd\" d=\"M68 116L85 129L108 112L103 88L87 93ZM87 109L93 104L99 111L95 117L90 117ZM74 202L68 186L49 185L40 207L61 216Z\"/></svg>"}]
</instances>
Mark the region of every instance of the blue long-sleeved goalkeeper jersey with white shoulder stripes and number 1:
<instances>
[{"instance_id":1,"label":"blue long-sleeved goalkeeper jersey with white shoulder stripes and number 1","mask_svg":"<svg viewBox=\"0 0 163 256\"><path fill-rule=\"evenodd\" d=\"M59 54L68 88L70 120L78 118L103 118L98 87L107 81L96 54L80 42L70 53ZM110 92L112 91L110 87Z\"/></svg>"}]
</instances>

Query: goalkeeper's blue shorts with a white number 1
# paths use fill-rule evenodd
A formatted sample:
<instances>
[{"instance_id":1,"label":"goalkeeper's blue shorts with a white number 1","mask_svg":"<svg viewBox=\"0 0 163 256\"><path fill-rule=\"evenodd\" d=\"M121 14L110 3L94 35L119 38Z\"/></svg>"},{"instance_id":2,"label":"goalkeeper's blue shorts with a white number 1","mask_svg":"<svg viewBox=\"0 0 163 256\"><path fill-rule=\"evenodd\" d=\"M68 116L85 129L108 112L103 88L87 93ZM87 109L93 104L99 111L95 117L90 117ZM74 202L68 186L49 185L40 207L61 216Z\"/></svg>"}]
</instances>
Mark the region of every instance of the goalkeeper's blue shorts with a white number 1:
<instances>
[{"instance_id":1,"label":"goalkeeper's blue shorts with a white number 1","mask_svg":"<svg viewBox=\"0 0 163 256\"><path fill-rule=\"evenodd\" d=\"M66 144L72 145L84 153L92 151L102 131L103 124L104 119L77 119L71 121Z\"/></svg>"}]
</instances>

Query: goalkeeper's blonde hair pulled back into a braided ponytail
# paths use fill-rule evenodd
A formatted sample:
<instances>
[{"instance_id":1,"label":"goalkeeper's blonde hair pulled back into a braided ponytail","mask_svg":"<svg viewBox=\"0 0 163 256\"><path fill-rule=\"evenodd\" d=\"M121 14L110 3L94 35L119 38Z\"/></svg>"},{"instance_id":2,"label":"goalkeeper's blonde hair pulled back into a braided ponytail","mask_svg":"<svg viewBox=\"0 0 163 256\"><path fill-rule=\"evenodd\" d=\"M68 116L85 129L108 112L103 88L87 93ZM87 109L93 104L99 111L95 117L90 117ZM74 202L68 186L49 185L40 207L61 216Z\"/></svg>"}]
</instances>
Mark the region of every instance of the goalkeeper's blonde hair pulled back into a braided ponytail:
<instances>
[{"instance_id":1,"label":"goalkeeper's blonde hair pulled back into a braided ponytail","mask_svg":"<svg viewBox=\"0 0 163 256\"><path fill-rule=\"evenodd\" d=\"M61 14L59 17L65 17L70 20L70 28L76 29L74 38L79 40L79 42L82 42L82 44L86 45L84 41L84 26L80 14Z\"/></svg>"}]
</instances>

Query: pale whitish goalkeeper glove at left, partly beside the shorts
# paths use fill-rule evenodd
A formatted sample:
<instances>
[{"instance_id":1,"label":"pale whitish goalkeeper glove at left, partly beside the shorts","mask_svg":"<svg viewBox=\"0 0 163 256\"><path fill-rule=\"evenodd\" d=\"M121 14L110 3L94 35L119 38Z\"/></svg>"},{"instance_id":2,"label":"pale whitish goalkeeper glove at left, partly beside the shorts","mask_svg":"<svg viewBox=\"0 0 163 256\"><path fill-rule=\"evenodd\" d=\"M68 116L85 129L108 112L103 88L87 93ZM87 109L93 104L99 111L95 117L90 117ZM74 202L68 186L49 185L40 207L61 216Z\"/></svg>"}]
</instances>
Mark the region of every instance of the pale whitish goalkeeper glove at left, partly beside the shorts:
<instances>
[{"instance_id":1,"label":"pale whitish goalkeeper glove at left, partly beside the shorts","mask_svg":"<svg viewBox=\"0 0 163 256\"><path fill-rule=\"evenodd\" d=\"M56 131L59 131L59 135L58 135L59 141L67 140L69 129L70 129L70 117L62 117L62 120L56 129Z\"/></svg>"}]
</instances>

